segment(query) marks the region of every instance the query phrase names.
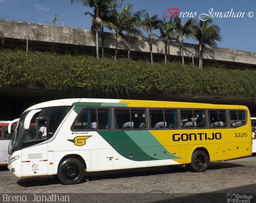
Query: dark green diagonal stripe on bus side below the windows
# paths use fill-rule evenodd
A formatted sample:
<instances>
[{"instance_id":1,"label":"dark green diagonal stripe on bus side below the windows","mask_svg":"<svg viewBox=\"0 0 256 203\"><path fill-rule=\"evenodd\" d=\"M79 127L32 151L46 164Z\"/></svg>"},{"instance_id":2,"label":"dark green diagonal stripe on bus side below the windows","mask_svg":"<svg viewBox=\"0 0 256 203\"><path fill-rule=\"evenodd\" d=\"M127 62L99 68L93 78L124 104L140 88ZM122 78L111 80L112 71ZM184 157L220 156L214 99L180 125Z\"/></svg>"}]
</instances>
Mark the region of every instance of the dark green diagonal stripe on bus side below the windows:
<instances>
[{"instance_id":1,"label":"dark green diagonal stripe on bus side below the windows","mask_svg":"<svg viewBox=\"0 0 256 203\"><path fill-rule=\"evenodd\" d=\"M149 157L146 152L148 147L142 150L124 131L100 131L98 134L124 158L133 161L158 160Z\"/></svg>"}]
</instances>

